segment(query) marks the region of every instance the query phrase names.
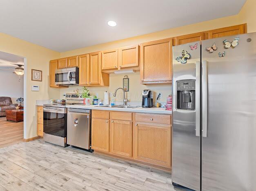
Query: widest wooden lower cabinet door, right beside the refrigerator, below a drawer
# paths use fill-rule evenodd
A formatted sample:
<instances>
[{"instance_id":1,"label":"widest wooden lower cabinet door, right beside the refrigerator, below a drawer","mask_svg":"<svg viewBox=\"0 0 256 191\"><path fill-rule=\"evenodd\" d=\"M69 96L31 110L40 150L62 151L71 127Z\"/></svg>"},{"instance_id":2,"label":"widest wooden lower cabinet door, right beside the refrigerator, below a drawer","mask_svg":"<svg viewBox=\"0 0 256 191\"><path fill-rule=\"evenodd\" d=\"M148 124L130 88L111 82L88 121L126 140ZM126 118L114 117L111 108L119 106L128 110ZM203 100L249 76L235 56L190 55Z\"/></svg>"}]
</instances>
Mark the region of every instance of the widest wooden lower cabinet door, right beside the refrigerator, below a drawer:
<instances>
[{"instance_id":1,"label":"widest wooden lower cabinet door, right beside the refrigerator, below a drawer","mask_svg":"<svg viewBox=\"0 0 256 191\"><path fill-rule=\"evenodd\" d=\"M136 123L134 159L171 167L171 127Z\"/></svg>"}]
</instances>

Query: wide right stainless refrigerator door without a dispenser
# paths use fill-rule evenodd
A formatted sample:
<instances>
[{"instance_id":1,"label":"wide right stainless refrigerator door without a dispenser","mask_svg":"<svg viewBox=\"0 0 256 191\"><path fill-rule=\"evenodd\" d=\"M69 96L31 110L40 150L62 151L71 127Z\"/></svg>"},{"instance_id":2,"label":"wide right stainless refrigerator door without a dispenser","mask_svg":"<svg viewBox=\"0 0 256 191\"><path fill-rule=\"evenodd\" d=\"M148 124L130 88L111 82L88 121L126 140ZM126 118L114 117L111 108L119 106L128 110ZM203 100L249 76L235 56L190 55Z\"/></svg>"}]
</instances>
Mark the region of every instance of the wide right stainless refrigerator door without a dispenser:
<instances>
[{"instance_id":1,"label":"wide right stainless refrigerator door without a dispenser","mask_svg":"<svg viewBox=\"0 0 256 191\"><path fill-rule=\"evenodd\" d=\"M256 190L256 33L236 37L202 42L203 191Z\"/></svg>"}]
</instances>

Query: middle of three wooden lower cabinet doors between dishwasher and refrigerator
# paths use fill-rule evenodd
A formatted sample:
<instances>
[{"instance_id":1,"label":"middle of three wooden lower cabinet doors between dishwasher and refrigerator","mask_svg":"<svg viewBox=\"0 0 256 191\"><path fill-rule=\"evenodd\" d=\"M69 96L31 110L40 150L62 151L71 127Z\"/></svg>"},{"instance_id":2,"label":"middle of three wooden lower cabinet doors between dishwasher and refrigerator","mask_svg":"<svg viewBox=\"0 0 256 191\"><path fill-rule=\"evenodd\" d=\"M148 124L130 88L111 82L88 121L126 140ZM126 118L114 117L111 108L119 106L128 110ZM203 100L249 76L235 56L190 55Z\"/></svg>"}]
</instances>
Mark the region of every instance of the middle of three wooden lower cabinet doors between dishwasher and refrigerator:
<instances>
[{"instance_id":1,"label":"middle of three wooden lower cabinet doors between dishwasher and refrigerator","mask_svg":"<svg viewBox=\"0 0 256 191\"><path fill-rule=\"evenodd\" d=\"M110 152L124 157L132 157L132 122L111 120Z\"/></svg>"}]
</instances>

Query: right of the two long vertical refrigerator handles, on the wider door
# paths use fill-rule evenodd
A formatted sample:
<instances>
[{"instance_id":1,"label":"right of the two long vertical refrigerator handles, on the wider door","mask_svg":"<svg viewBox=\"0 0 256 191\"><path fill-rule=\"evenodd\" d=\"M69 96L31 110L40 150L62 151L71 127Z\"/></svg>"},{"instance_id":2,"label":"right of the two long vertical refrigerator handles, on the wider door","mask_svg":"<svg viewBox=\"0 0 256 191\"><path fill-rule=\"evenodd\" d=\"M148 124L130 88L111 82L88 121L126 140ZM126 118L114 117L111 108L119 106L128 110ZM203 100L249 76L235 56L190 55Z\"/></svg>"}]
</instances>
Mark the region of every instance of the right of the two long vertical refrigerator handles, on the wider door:
<instances>
[{"instance_id":1,"label":"right of the two long vertical refrigerator handles, on the wider door","mask_svg":"<svg viewBox=\"0 0 256 191\"><path fill-rule=\"evenodd\" d=\"M202 61L202 103L203 103L203 121L202 121L202 134L207 137L207 104L208 104L208 80L207 80L207 61Z\"/></svg>"}]
</instances>

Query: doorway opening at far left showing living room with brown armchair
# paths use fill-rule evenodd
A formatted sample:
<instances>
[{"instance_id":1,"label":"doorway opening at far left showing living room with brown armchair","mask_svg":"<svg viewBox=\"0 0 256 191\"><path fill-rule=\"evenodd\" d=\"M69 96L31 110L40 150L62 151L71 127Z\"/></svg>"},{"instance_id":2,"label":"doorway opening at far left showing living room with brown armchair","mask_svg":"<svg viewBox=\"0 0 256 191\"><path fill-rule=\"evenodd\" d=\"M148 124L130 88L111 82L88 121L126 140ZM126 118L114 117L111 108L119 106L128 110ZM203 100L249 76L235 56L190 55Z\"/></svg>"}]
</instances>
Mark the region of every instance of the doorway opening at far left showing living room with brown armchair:
<instances>
[{"instance_id":1,"label":"doorway opening at far left showing living room with brown armchair","mask_svg":"<svg viewBox=\"0 0 256 191\"><path fill-rule=\"evenodd\" d=\"M0 51L0 148L23 141L26 59Z\"/></svg>"}]
</instances>

